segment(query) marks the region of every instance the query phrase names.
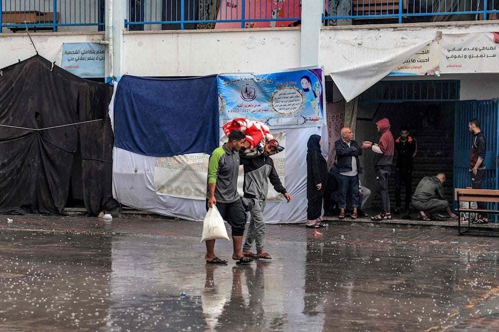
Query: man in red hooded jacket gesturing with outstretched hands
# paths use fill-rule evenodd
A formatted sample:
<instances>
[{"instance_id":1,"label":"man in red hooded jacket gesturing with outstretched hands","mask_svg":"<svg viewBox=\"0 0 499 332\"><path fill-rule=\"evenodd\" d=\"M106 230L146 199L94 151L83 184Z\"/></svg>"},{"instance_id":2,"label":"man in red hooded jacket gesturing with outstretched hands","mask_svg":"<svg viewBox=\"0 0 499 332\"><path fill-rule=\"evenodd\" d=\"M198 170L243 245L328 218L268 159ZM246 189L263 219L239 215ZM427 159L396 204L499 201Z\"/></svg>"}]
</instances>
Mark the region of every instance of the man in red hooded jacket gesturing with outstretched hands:
<instances>
[{"instance_id":1,"label":"man in red hooded jacket gesturing with outstretched hands","mask_svg":"<svg viewBox=\"0 0 499 332\"><path fill-rule=\"evenodd\" d=\"M364 141L362 148L371 149L374 152L374 171L376 172L375 191L380 202L380 213L372 216L371 220L380 221L392 219L390 213L390 197L388 196L388 178L392 168L394 140L390 132L390 121L385 117L376 122L378 132L381 134L379 143Z\"/></svg>"}]
</instances>

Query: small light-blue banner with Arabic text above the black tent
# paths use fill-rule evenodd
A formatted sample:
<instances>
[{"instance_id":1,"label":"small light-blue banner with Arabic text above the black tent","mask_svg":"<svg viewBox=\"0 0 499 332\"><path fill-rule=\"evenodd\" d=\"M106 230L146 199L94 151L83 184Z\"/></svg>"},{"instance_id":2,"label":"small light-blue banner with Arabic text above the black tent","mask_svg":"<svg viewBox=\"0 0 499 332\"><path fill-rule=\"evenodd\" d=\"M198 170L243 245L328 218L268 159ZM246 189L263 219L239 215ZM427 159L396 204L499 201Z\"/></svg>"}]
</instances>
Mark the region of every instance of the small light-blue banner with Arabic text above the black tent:
<instances>
[{"instance_id":1,"label":"small light-blue banner with Arabic text above the black tent","mask_svg":"<svg viewBox=\"0 0 499 332\"><path fill-rule=\"evenodd\" d=\"M96 43L63 43L61 67L79 77L104 77L105 46Z\"/></svg>"}]
</instances>

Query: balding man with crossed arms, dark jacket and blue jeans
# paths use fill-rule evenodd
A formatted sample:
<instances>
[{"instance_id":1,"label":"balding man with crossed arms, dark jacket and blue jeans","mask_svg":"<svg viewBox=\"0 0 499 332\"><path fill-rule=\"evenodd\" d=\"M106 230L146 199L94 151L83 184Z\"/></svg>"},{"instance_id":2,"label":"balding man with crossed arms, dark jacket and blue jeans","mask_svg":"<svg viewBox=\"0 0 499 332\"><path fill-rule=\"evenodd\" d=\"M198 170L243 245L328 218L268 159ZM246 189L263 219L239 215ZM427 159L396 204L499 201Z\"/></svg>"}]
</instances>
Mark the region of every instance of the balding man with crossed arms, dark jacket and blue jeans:
<instances>
[{"instance_id":1,"label":"balding man with crossed arms, dark jacket and blue jeans","mask_svg":"<svg viewBox=\"0 0 499 332\"><path fill-rule=\"evenodd\" d=\"M357 208L359 204L359 174L362 173L359 156L362 149L353 140L353 132L350 128L341 128L341 138L334 142L336 150L336 166L339 169L338 175L338 206L340 208L339 219L345 218L346 198L352 196L353 213L350 218L357 218Z\"/></svg>"}]
</instances>

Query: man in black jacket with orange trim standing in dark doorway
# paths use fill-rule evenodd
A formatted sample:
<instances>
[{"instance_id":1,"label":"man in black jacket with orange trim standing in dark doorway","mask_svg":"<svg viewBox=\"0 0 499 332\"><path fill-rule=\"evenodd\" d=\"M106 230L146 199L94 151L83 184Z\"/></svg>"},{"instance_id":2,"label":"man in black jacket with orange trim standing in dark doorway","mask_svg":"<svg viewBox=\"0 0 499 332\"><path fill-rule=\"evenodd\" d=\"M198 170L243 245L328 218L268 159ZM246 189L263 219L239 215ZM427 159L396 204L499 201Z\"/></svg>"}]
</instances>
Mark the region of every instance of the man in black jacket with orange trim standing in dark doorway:
<instances>
[{"instance_id":1,"label":"man in black jacket with orange trim standing in dark doorway","mask_svg":"<svg viewBox=\"0 0 499 332\"><path fill-rule=\"evenodd\" d=\"M397 152L397 165L395 166L395 211L400 214L402 184L405 187L405 216L402 219L411 219L409 207L412 194L412 170L413 159L418 153L418 143L414 137L409 136L409 127L400 128L400 136L395 140L395 152Z\"/></svg>"}]
</instances>

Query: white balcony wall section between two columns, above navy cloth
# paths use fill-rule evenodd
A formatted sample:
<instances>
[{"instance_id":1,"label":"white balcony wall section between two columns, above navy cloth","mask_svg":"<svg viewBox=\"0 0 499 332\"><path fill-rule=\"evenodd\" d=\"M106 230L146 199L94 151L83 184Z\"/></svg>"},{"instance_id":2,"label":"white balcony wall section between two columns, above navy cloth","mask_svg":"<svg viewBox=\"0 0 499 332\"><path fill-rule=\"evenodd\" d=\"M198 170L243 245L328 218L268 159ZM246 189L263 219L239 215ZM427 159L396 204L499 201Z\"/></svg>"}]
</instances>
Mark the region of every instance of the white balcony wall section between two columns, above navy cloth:
<instances>
[{"instance_id":1,"label":"white balcony wall section between two columns, above navy cloth","mask_svg":"<svg viewBox=\"0 0 499 332\"><path fill-rule=\"evenodd\" d=\"M299 29L124 32L124 74L201 76L300 67Z\"/></svg>"}]
</instances>

